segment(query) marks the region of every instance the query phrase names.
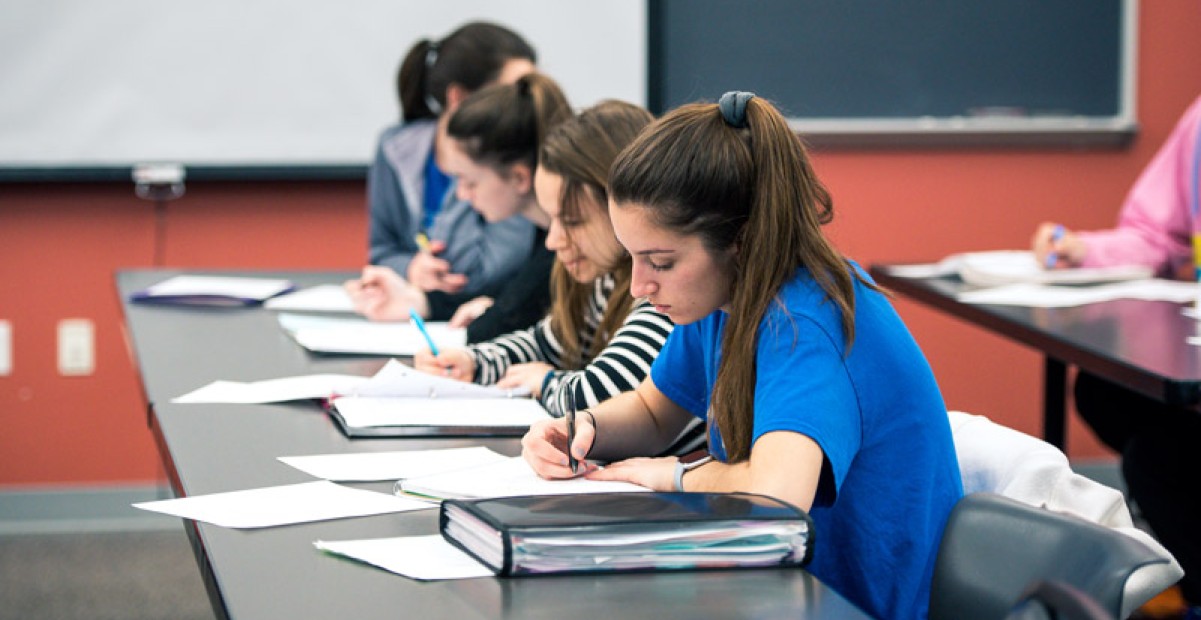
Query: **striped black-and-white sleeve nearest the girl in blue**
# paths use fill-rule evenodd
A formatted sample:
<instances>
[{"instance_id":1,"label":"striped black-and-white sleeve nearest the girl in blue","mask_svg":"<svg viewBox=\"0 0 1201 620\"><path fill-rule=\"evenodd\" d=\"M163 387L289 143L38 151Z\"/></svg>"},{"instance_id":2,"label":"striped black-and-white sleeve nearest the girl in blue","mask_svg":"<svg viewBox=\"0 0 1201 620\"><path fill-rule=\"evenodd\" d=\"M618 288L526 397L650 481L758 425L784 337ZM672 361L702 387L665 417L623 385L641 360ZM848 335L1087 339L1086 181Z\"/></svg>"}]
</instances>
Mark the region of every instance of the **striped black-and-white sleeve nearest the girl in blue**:
<instances>
[{"instance_id":1,"label":"striped black-and-white sleeve nearest the girl in blue","mask_svg":"<svg viewBox=\"0 0 1201 620\"><path fill-rule=\"evenodd\" d=\"M586 366L550 374L543 383L542 405L560 417L567 411L567 399L585 409L634 389L650 374L673 327L651 304L637 303L609 345Z\"/></svg>"}]
</instances>

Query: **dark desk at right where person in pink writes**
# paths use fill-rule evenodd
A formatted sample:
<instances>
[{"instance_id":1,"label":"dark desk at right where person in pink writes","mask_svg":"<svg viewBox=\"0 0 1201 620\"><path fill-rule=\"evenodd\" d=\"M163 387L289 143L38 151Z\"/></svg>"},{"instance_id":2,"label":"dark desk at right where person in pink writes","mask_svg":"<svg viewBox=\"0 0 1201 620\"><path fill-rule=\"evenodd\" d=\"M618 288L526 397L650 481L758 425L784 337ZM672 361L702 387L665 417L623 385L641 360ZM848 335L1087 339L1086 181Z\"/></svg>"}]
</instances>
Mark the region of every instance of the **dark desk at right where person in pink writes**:
<instances>
[{"instance_id":1,"label":"dark desk at right where person in pink writes","mask_svg":"<svg viewBox=\"0 0 1201 620\"><path fill-rule=\"evenodd\" d=\"M1069 364L1163 403L1201 403L1201 348L1184 341L1197 334L1197 322L1181 314L1181 304L1139 299L1074 308L964 304L956 294L969 286L957 276L898 278L886 264L870 272L889 291L1040 351L1042 436L1060 449L1066 437Z\"/></svg>"}]
</instances>

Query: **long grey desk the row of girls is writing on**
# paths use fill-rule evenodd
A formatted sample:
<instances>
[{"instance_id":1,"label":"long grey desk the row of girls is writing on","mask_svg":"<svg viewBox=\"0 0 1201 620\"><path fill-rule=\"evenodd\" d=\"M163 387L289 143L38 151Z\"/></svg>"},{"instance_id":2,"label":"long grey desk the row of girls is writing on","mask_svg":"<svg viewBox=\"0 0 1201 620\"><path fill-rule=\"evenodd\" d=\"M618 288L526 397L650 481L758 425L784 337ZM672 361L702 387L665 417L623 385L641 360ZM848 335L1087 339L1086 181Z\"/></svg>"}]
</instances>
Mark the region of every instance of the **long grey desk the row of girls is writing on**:
<instances>
[{"instance_id":1,"label":"long grey desk the row of girls is writing on","mask_svg":"<svg viewBox=\"0 0 1201 620\"><path fill-rule=\"evenodd\" d=\"M313 404L178 405L210 381L313 372L370 375L380 359L318 357L285 335L271 311L130 304L129 294L179 272L116 275L149 424L180 496L307 482L276 457L484 445L518 454L516 439L349 440ZM255 273L301 286L352 274ZM390 483L357 484L388 491ZM803 570L464 579L420 583L312 547L437 532L436 511L233 530L186 521L220 618L866 618Z\"/></svg>"}]
</instances>

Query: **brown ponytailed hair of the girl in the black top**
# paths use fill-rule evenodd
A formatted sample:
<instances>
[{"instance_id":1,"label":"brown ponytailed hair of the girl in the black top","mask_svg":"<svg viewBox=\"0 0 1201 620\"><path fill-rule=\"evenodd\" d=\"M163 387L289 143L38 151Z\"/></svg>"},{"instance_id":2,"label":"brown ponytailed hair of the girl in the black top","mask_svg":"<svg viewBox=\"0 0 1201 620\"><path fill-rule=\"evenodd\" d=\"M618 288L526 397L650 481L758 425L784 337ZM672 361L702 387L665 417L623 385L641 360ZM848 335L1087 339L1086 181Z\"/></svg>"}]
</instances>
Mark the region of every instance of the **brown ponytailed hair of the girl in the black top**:
<instances>
[{"instance_id":1,"label":"brown ponytailed hair of the girl in the black top","mask_svg":"<svg viewBox=\"0 0 1201 620\"><path fill-rule=\"evenodd\" d=\"M514 163L533 173L543 137L572 118L572 106L554 79L542 73L513 84L492 84L471 95L450 117L447 133L473 161L502 174Z\"/></svg>"}]
</instances>

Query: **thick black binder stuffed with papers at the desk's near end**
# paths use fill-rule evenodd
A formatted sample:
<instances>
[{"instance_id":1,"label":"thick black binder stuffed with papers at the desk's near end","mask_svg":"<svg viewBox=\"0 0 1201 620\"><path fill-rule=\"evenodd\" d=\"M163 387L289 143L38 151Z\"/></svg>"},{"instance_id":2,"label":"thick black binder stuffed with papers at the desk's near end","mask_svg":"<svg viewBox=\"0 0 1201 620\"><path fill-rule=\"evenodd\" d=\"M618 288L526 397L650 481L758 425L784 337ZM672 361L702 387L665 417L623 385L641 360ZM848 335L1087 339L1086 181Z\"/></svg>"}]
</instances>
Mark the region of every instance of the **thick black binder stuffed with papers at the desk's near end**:
<instances>
[{"instance_id":1,"label":"thick black binder stuffed with papers at the desk's near end","mask_svg":"<svg viewBox=\"0 0 1201 620\"><path fill-rule=\"evenodd\" d=\"M446 500L442 536L502 577L803 566L808 513L747 493Z\"/></svg>"}]
</instances>

